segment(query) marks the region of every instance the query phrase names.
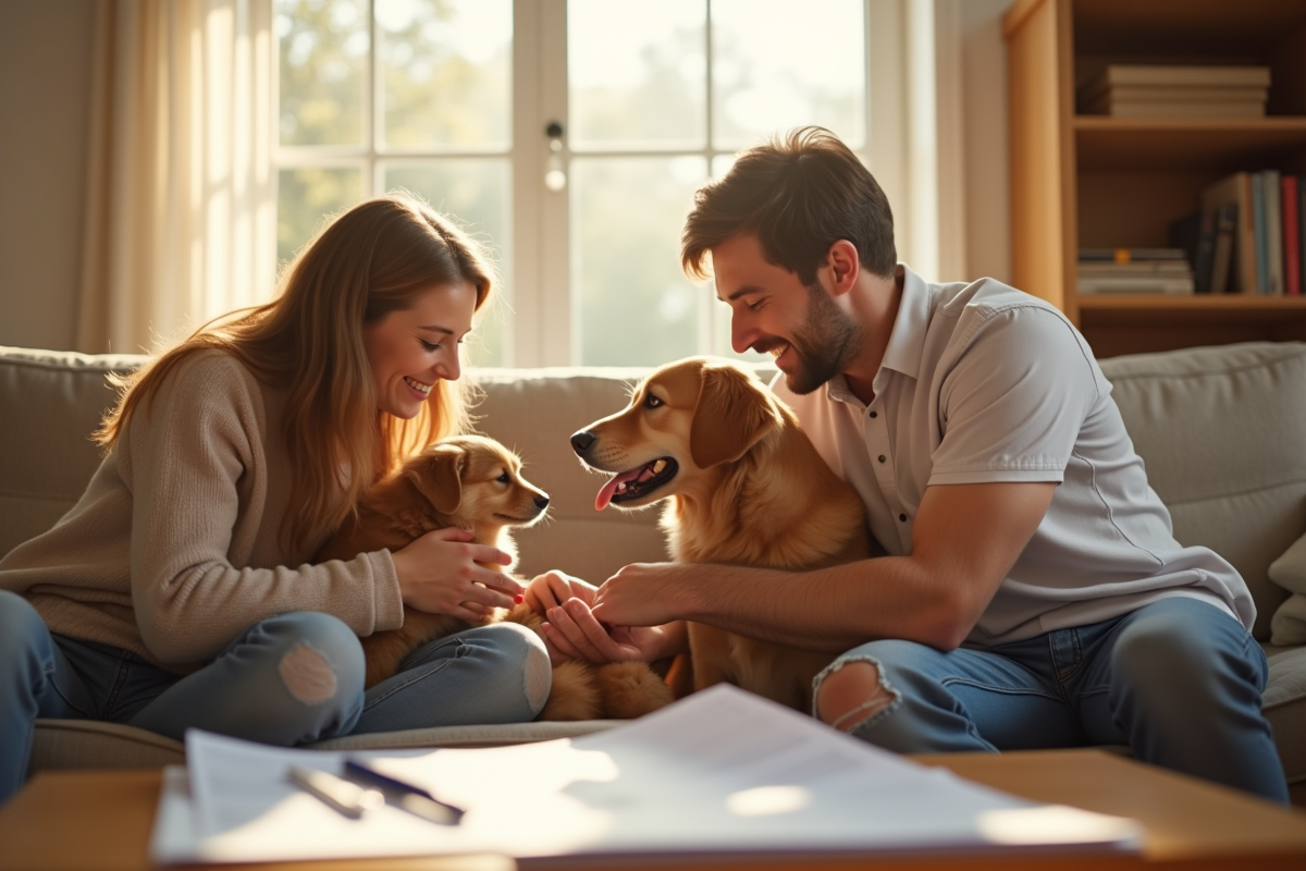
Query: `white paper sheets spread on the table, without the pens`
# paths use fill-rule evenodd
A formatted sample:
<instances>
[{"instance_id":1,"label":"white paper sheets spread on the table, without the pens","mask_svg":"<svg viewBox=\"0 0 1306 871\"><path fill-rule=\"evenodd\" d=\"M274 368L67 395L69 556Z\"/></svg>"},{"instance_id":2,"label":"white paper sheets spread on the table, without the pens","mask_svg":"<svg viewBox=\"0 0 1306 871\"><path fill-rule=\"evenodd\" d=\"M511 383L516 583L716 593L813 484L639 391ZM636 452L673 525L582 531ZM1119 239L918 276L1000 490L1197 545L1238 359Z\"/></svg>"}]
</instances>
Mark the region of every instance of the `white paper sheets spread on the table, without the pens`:
<instances>
[{"instance_id":1,"label":"white paper sheets spread on the table, without the pens","mask_svg":"<svg viewBox=\"0 0 1306 871\"><path fill-rule=\"evenodd\" d=\"M351 753L466 810L438 825L394 807L351 820L286 780L343 752L202 731L170 770L151 858L263 862L502 853L1010 853L1132 850L1121 817L1037 804L835 731L731 686L582 738L481 750Z\"/></svg>"}]
</instances>

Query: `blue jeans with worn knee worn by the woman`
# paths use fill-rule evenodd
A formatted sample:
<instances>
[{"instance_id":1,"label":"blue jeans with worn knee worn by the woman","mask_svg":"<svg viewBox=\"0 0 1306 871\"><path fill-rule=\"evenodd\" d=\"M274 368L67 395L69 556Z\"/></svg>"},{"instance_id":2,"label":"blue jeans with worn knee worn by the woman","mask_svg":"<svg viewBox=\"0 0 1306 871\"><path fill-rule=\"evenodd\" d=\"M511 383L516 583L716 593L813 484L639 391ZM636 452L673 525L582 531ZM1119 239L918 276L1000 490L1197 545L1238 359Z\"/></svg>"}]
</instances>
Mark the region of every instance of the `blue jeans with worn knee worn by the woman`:
<instances>
[{"instance_id":1,"label":"blue jeans with worn knee worn by the woman","mask_svg":"<svg viewBox=\"0 0 1306 871\"><path fill-rule=\"evenodd\" d=\"M363 649L328 614L261 620L193 674L54 635L0 590L0 804L26 778L38 717L104 720L182 739L187 729L293 746L351 733L533 720L549 697L543 642L513 623L438 639L363 692Z\"/></svg>"}]
</instances>

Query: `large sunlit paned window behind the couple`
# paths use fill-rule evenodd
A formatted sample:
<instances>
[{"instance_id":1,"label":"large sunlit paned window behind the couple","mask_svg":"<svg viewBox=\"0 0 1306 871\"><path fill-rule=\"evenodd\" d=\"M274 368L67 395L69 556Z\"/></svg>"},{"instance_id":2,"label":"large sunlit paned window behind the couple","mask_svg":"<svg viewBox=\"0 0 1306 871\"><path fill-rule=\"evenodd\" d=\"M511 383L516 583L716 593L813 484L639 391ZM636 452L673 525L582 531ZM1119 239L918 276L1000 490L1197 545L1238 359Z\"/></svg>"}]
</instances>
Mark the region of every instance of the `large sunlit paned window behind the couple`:
<instances>
[{"instance_id":1,"label":"large sunlit paned window behind the couple","mask_svg":"<svg viewBox=\"0 0 1306 871\"><path fill-rule=\"evenodd\" d=\"M885 5L278 0L278 257L405 188L499 262L473 362L729 354L729 309L680 273L692 193L803 124L876 165L868 18Z\"/></svg>"}]
</instances>

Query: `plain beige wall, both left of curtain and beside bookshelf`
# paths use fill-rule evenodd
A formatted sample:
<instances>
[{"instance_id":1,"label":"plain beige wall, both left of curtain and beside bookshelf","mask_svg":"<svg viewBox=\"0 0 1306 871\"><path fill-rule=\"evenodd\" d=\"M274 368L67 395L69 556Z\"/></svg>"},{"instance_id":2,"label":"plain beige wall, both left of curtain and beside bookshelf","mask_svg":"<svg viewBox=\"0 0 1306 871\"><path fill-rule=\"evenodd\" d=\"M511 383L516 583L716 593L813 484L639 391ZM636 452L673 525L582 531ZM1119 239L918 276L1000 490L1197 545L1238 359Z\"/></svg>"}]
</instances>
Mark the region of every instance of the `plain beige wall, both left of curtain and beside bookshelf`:
<instances>
[{"instance_id":1,"label":"plain beige wall, both left of curtain and beside bookshelf","mask_svg":"<svg viewBox=\"0 0 1306 871\"><path fill-rule=\"evenodd\" d=\"M1002 14L1012 0L953 1L966 272L1010 279ZM0 345L73 346L95 3L0 0Z\"/></svg>"}]
</instances>

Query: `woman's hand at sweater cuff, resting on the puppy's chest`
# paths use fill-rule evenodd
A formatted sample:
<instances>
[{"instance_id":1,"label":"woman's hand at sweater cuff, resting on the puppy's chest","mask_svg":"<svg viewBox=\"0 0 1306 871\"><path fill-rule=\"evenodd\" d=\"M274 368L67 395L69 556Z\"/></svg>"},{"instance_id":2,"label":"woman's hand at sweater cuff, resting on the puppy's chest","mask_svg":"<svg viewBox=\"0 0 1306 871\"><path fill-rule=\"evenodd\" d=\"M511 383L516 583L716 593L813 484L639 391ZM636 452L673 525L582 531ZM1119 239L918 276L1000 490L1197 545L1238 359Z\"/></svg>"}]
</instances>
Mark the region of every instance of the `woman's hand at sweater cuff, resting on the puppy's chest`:
<instances>
[{"instance_id":1,"label":"woman's hand at sweater cuff, resting on the puppy's chest","mask_svg":"<svg viewBox=\"0 0 1306 871\"><path fill-rule=\"evenodd\" d=\"M498 547L473 543L471 533L457 526L414 539L393 560L405 605L471 623L482 622L488 609L512 607L525 589L508 575L478 565L508 565L512 558Z\"/></svg>"}]
</instances>

